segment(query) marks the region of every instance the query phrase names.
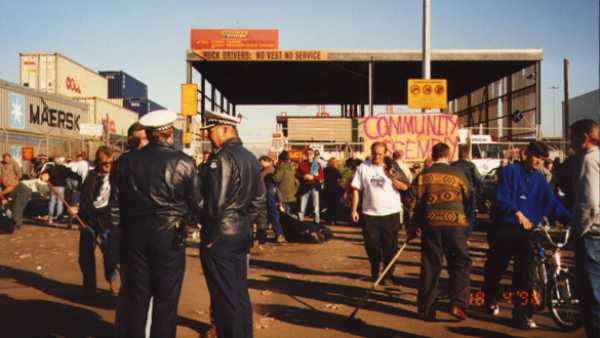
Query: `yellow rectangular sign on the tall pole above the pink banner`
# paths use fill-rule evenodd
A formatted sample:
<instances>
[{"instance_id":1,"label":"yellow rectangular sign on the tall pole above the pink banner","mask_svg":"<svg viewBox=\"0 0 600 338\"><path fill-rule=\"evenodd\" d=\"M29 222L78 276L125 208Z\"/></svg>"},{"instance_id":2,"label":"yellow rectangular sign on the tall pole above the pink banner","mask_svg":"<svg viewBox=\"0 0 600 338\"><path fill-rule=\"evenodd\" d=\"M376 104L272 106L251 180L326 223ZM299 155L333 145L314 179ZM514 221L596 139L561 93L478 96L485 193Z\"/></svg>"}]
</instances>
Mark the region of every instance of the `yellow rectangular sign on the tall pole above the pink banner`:
<instances>
[{"instance_id":1,"label":"yellow rectangular sign on the tall pole above the pink banner","mask_svg":"<svg viewBox=\"0 0 600 338\"><path fill-rule=\"evenodd\" d=\"M409 108L448 108L448 90L446 79L409 79Z\"/></svg>"}]
</instances>

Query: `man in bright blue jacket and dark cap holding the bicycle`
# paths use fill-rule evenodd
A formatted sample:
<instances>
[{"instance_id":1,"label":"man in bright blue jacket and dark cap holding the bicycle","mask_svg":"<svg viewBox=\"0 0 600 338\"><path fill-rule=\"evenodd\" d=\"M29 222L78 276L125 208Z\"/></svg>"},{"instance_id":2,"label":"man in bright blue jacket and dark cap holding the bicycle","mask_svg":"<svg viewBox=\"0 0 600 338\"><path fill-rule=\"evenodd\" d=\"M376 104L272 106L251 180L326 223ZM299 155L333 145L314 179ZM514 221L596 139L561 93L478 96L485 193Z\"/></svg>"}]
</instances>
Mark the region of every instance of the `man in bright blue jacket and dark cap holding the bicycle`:
<instances>
[{"instance_id":1,"label":"man in bright blue jacket and dark cap holding the bicycle","mask_svg":"<svg viewBox=\"0 0 600 338\"><path fill-rule=\"evenodd\" d=\"M513 324L522 329L537 327L533 315L534 253L530 246L530 230L543 217L570 221L570 213L562 206L538 169L548 157L546 145L531 141L525 159L502 170L493 208L493 225L488 231L490 249L485 264L484 292L490 314L500 313L499 286L511 259L513 268Z\"/></svg>"}]
</instances>

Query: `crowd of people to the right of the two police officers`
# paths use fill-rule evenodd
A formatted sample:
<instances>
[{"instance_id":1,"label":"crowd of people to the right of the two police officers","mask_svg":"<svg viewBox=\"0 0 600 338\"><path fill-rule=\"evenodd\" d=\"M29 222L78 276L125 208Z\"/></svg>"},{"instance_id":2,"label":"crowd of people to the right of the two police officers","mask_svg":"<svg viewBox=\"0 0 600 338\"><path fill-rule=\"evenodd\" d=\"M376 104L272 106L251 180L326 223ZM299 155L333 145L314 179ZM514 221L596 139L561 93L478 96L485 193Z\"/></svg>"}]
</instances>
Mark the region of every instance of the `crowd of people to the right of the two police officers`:
<instances>
[{"instance_id":1,"label":"crowd of people to the right of the two police officers","mask_svg":"<svg viewBox=\"0 0 600 338\"><path fill-rule=\"evenodd\" d=\"M598 158L593 156L597 152L597 133L597 123L580 121L572 126L570 156L563 163L549 158L544 143L532 141L521 149L518 159L503 160L496 170L483 287L484 309L490 315L500 314L500 281L513 261L513 325L521 329L537 327L533 314L535 297L540 295L533 290L531 231L548 218L555 224L572 226L580 234L575 240L580 282L577 290L579 297L585 297L581 301L588 336L599 336L600 173ZM262 177L270 191L269 214L277 215L278 208L295 210L298 219L303 220L308 201L312 200L314 222L320 222L321 211L328 215L329 224L350 216L350 221L362 228L373 281L398 250L399 230L406 225L408 240L421 236L418 312L426 320L436 318L445 257L450 276L450 313L465 320L472 265L468 244L477 223L477 200L485 198L481 174L469 161L467 147L460 147L459 159L454 162L449 146L443 143L433 147L431 157L422 165L409 167L402 155L390 153L386 144L376 142L364 162L351 158L344 166L338 166L335 158L319 161L312 149L307 149L297 164L290 164L286 152L281 153L275 166L272 159L263 156ZM327 163L324 170L322 163ZM285 191L285 197L280 190ZM269 217L269 222L279 239L282 225L278 218ZM393 274L392 266L381 284L395 283Z\"/></svg>"}]
</instances>

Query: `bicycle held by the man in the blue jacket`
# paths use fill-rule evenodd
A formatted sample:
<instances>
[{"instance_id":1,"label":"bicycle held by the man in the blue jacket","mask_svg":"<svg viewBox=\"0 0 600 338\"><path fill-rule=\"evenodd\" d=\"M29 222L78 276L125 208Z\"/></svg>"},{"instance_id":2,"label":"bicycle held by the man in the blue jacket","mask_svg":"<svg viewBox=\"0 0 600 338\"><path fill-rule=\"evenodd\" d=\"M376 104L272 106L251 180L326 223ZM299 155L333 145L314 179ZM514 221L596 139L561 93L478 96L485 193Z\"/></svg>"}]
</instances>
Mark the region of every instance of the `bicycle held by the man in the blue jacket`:
<instances>
[{"instance_id":1,"label":"bicycle held by the man in the blue jacket","mask_svg":"<svg viewBox=\"0 0 600 338\"><path fill-rule=\"evenodd\" d=\"M583 325L579 299L575 292L576 279L571 269L562 263L561 250L569 242L570 228L563 230L562 242L555 242L550 235L547 219L532 230L534 249L538 260L535 265L533 297L536 311L546 305L552 319L564 331L575 331ZM550 248L546 254L544 244ZM550 259L551 258L551 259Z\"/></svg>"}]
</instances>

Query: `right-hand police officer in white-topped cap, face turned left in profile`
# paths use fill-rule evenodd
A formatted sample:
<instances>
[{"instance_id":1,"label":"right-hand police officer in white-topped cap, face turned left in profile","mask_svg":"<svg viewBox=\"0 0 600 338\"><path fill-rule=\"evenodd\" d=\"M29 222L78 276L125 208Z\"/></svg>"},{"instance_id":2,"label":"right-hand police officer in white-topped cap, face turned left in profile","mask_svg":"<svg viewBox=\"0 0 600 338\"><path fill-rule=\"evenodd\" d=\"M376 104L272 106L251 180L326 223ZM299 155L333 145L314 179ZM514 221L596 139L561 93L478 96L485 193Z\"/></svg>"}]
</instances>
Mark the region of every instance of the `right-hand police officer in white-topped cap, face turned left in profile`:
<instances>
[{"instance_id":1,"label":"right-hand police officer in white-topped cap, face turned left in profile","mask_svg":"<svg viewBox=\"0 0 600 338\"><path fill-rule=\"evenodd\" d=\"M242 146L238 119L207 112L213 153L201 172L204 213L200 257L219 338L252 337L247 260L252 225L266 222L265 187L256 157Z\"/></svg>"}]
</instances>

